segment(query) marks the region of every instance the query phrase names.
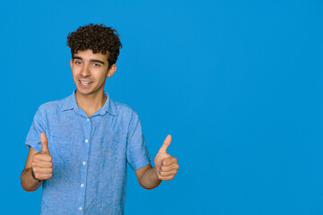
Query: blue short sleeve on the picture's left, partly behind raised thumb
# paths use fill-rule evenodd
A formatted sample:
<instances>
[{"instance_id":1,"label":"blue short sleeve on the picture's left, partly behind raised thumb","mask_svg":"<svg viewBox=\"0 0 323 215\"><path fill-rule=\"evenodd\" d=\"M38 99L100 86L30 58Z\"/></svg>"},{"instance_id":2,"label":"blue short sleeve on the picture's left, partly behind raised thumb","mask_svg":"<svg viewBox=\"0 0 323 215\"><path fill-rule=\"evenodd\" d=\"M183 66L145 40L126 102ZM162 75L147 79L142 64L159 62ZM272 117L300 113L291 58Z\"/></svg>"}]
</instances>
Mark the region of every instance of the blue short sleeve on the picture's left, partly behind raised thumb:
<instances>
[{"instance_id":1,"label":"blue short sleeve on the picture's left, partly behind raised thumb","mask_svg":"<svg viewBox=\"0 0 323 215\"><path fill-rule=\"evenodd\" d=\"M41 150L41 142L40 142L40 133L45 133L45 114L43 108L40 106L37 110L29 133L27 134L25 145L30 148L32 147L34 150Z\"/></svg>"}]
</instances>

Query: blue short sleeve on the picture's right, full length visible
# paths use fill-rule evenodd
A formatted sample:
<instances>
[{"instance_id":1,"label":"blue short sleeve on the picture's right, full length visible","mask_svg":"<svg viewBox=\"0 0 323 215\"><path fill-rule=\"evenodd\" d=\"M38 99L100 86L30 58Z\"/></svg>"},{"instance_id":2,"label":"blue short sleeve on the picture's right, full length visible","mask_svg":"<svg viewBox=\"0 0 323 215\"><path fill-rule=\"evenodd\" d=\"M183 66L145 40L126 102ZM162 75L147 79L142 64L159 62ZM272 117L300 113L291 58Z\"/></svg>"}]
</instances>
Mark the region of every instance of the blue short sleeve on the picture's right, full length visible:
<instances>
[{"instance_id":1,"label":"blue short sleeve on the picture's right, full length visible","mask_svg":"<svg viewBox=\"0 0 323 215\"><path fill-rule=\"evenodd\" d=\"M133 170L144 168L151 163L152 158L144 142L142 125L136 112L130 119L127 135L127 163Z\"/></svg>"}]
</instances>

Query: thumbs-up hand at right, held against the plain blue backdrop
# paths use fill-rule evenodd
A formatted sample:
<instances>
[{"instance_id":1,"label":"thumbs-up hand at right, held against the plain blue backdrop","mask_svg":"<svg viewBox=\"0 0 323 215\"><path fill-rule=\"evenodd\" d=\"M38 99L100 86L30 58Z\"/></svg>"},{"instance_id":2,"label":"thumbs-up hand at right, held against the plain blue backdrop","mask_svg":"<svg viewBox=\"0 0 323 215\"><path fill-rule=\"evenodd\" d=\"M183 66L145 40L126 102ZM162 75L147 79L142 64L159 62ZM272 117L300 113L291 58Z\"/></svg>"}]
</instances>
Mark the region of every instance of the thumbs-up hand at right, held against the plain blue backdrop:
<instances>
[{"instance_id":1,"label":"thumbs-up hand at right, held against the plain blue backdrop","mask_svg":"<svg viewBox=\"0 0 323 215\"><path fill-rule=\"evenodd\" d=\"M170 146L171 136L168 135L162 144L160 150L158 150L156 157L154 158L155 167L157 170L157 176L160 180L171 180L176 175L179 164L178 159L167 153L167 148Z\"/></svg>"}]
</instances>

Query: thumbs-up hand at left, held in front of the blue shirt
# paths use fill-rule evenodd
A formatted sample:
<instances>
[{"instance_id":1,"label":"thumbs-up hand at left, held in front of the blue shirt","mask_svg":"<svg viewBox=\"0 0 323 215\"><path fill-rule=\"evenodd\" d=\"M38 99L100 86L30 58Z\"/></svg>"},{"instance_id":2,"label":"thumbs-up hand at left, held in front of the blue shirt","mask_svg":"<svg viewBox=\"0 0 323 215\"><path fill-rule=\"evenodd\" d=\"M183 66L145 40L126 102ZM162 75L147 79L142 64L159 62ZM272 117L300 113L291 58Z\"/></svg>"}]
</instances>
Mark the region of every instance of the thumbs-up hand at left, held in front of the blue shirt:
<instances>
[{"instance_id":1,"label":"thumbs-up hand at left, held in front of the blue shirt","mask_svg":"<svg viewBox=\"0 0 323 215\"><path fill-rule=\"evenodd\" d=\"M48 179L53 175L52 157L49 154L48 139L45 133L40 133L41 150L34 154L31 167L39 180Z\"/></svg>"}]
</instances>

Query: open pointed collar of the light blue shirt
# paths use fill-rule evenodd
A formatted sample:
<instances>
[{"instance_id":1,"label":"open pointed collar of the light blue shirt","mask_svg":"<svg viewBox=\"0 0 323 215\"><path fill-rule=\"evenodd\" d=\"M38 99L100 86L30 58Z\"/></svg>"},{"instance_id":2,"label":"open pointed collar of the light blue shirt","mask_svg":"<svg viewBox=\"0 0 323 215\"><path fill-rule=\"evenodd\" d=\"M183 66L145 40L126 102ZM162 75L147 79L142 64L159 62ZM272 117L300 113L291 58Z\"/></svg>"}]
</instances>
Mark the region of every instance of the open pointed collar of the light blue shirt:
<instances>
[{"instance_id":1,"label":"open pointed collar of the light blue shirt","mask_svg":"<svg viewBox=\"0 0 323 215\"><path fill-rule=\"evenodd\" d=\"M73 91L73 94L70 95L67 99L65 99L62 107L62 111L74 109L76 113L79 113L81 107L77 106L76 99L75 99L75 92ZM100 109L96 112L96 114L105 115L107 112L110 115L117 116L117 108L113 102L113 100L109 97L109 93L107 91L103 91L103 94L105 97L107 97L106 102L104 103L103 107L100 107Z\"/></svg>"}]
</instances>

